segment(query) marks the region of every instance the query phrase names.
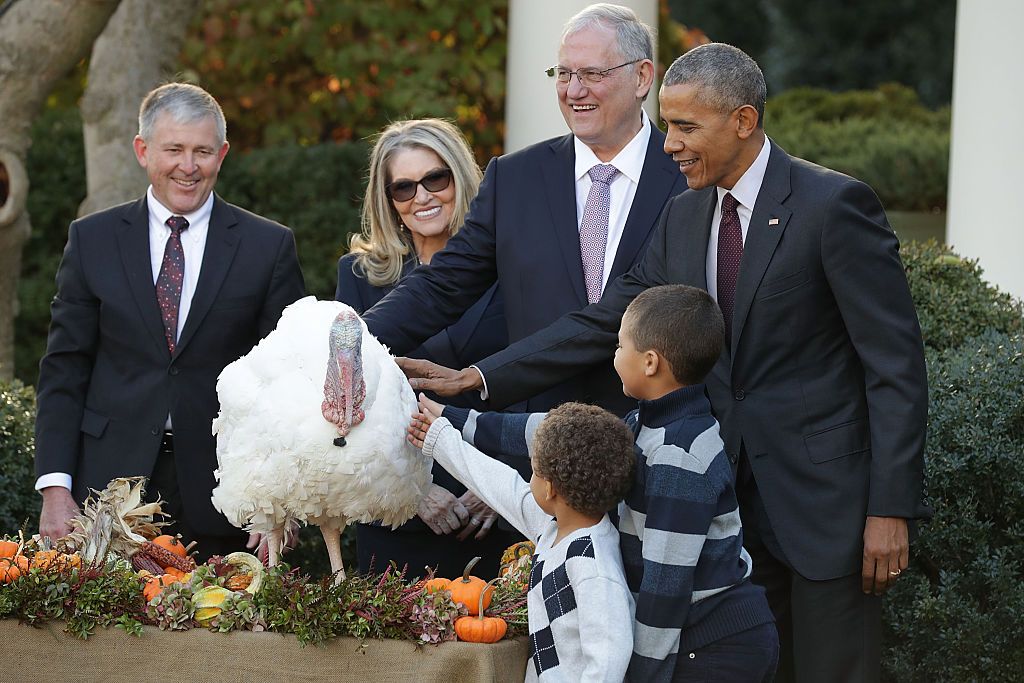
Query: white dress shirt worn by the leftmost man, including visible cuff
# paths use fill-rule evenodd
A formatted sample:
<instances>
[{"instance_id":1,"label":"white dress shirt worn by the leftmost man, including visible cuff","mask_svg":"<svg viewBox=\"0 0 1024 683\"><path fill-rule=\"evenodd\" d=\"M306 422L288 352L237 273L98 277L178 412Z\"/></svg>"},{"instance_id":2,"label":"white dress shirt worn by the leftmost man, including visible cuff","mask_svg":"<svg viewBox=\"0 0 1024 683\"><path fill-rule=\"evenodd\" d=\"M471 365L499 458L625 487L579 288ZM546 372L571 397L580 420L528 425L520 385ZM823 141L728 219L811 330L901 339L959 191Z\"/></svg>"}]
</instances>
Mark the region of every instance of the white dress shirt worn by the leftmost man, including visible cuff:
<instances>
[{"instance_id":1,"label":"white dress shirt worn by the leftmost man, including visible cuff","mask_svg":"<svg viewBox=\"0 0 1024 683\"><path fill-rule=\"evenodd\" d=\"M156 287L157 278L160 276L160 266L164 262L164 248L167 245L167 238L171 234L171 228L167 226L167 219L177 215L161 204L153 195L153 185L146 190L146 206L150 210L150 262L153 266L153 284ZM203 264L203 254L206 252L206 236L210 229L210 214L213 212L213 193L207 198L199 209L193 213L184 214L188 221L188 227L181 232L181 250L185 257L185 272L181 283L181 299L178 303L178 330L176 337L181 336L181 330L185 327L185 319L188 317L188 309L191 307L191 298L196 294L196 285L199 283L200 266ZM154 289L154 302L156 303L156 289ZM165 429L171 428L171 416L167 416ZM71 489L71 474L67 472L50 472L36 479L36 490L41 490L46 486L63 486Z\"/></svg>"}]
</instances>

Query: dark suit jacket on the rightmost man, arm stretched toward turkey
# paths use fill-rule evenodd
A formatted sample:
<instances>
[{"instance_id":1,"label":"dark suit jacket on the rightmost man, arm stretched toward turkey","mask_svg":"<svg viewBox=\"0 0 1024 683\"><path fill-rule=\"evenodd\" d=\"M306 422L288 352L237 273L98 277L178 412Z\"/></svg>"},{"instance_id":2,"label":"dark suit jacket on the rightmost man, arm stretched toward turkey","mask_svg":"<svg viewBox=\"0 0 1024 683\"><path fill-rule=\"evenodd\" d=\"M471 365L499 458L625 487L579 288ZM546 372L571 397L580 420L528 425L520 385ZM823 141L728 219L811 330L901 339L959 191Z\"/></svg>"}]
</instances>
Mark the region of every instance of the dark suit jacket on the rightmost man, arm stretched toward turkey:
<instances>
[{"instance_id":1,"label":"dark suit jacket on the rightmost man, arm stretched toward turkey","mask_svg":"<svg viewBox=\"0 0 1024 683\"><path fill-rule=\"evenodd\" d=\"M606 362L644 289L706 288L716 200L714 187L676 198L643 262L600 302L477 364L492 403ZM859 571L866 515L931 512L924 349L898 249L867 185L772 144L731 348L707 383L730 460L742 443L786 558L811 580Z\"/></svg>"}]
</instances>

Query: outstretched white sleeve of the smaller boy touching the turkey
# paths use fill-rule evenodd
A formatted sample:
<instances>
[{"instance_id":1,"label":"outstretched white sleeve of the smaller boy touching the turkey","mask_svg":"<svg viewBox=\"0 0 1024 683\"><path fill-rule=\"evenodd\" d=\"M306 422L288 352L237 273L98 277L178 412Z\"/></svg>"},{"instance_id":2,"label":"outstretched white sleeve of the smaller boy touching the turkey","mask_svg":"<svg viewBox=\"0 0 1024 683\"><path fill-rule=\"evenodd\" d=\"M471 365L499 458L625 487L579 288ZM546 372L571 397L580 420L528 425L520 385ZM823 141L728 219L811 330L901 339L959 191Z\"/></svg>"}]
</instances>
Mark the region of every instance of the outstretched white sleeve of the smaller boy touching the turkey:
<instances>
[{"instance_id":1,"label":"outstretched white sleeve of the smaller boy touching the turkey","mask_svg":"<svg viewBox=\"0 0 1024 683\"><path fill-rule=\"evenodd\" d=\"M459 430L444 418L430 425L423 454L440 463L526 538L536 539L551 521L518 472L463 441Z\"/></svg>"}]
</instances>

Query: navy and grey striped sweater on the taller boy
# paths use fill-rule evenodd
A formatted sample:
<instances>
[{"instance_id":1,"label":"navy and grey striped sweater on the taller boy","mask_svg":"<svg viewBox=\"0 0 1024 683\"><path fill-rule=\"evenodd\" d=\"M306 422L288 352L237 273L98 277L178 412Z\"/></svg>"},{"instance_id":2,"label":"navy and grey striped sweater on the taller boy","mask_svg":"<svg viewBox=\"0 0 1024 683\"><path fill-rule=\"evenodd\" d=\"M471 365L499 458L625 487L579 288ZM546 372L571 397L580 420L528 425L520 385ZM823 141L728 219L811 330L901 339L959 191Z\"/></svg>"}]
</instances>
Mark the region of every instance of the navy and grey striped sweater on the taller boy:
<instances>
[{"instance_id":1,"label":"navy and grey striped sweater on the taller boy","mask_svg":"<svg viewBox=\"0 0 1024 683\"><path fill-rule=\"evenodd\" d=\"M544 414L444 409L481 451L528 456ZM637 474L620 504L623 563L636 602L629 679L671 681L680 652L773 621L751 558L732 470L703 385L641 400L626 416Z\"/></svg>"}]
</instances>

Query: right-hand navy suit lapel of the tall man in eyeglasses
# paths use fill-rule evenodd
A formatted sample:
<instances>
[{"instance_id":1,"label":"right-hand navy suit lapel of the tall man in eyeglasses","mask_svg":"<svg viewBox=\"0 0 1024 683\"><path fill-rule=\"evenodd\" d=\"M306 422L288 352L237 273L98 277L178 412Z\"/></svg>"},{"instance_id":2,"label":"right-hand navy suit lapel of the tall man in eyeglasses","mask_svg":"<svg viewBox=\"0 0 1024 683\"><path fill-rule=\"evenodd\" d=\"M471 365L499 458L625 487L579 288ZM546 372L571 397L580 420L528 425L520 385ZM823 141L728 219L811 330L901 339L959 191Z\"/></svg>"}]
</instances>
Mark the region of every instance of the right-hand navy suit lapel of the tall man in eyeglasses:
<instances>
[{"instance_id":1,"label":"right-hand navy suit lapel of the tall man in eyeglasses","mask_svg":"<svg viewBox=\"0 0 1024 683\"><path fill-rule=\"evenodd\" d=\"M654 229L657 216L669 201L673 186L679 180L679 166L672 161L672 157L665 154L665 133L651 122L647 125L651 127L651 131L647 153L644 155L643 171L633 197L633 206L626 218L608 282L630 269L647 236Z\"/></svg>"}]
</instances>

